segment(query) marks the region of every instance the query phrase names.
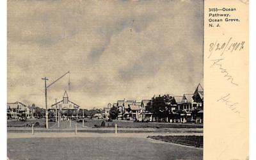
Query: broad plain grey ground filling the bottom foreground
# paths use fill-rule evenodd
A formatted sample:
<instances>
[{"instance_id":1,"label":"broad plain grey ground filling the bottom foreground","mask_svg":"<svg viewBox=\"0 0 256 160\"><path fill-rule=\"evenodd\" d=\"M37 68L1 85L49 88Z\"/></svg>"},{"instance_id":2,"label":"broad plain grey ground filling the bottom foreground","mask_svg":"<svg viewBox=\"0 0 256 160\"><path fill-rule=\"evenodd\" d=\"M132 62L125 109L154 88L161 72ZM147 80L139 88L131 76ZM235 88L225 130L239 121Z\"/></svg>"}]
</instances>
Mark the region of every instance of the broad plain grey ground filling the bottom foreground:
<instances>
[{"instance_id":1,"label":"broad plain grey ground filling the bottom foreground","mask_svg":"<svg viewBox=\"0 0 256 160\"><path fill-rule=\"evenodd\" d=\"M203 159L203 150L148 138L14 138L10 159Z\"/></svg>"}]
</instances>

